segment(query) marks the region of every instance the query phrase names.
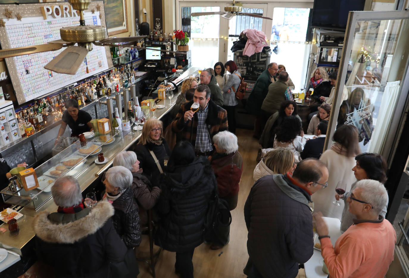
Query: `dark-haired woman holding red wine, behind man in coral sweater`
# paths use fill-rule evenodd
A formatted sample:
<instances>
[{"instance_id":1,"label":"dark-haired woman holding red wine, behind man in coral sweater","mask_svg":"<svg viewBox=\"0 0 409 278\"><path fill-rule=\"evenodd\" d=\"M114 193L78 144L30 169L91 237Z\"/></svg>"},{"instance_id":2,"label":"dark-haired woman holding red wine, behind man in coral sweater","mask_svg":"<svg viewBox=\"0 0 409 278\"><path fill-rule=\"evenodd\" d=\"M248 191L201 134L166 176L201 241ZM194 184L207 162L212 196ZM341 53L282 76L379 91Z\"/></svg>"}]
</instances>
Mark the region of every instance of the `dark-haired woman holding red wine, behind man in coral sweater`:
<instances>
[{"instance_id":1,"label":"dark-haired woman holding red wine, behind man in coral sweater","mask_svg":"<svg viewBox=\"0 0 409 278\"><path fill-rule=\"evenodd\" d=\"M342 198L345 202L344 210L342 211L341 219L341 232L345 232L352 224L355 216L348 211L349 203L346 201L348 197L351 197L351 192L354 190L355 185L360 180L378 180L379 182L385 183L387 180L386 171L388 170L388 165L382 155L377 153L361 153L355 157L356 165L352 168L355 178L357 179L351 186L351 190L343 195L335 194L335 198L339 200ZM351 198L352 202L360 202L360 200ZM380 213L383 217L387 212L387 207L384 207Z\"/></svg>"}]
</instances>

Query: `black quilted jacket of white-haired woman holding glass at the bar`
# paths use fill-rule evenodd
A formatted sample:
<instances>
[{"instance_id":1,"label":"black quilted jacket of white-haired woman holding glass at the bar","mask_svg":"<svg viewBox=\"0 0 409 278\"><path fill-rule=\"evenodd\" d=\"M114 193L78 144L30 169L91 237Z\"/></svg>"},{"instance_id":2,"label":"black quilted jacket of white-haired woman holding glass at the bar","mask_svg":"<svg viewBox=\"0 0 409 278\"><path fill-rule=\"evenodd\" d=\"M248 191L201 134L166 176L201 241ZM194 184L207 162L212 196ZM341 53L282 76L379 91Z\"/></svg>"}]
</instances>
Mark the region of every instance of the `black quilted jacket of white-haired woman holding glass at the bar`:
<instances>
[{"instance_id":1,"label":"black quilted jacket of white-haired woman holding glass at the bar","mask_svg":"<svg viewBox=\"0 0 409 278\"><path fill-rule=\"evenodd\" d=\"M141 243L141 227L139 224L139 207L133 196L131 187L119 196L112 206L115 214L112 216L115 230L124 241L126 247L133 248Z\"/></svg>"}]
</instances>

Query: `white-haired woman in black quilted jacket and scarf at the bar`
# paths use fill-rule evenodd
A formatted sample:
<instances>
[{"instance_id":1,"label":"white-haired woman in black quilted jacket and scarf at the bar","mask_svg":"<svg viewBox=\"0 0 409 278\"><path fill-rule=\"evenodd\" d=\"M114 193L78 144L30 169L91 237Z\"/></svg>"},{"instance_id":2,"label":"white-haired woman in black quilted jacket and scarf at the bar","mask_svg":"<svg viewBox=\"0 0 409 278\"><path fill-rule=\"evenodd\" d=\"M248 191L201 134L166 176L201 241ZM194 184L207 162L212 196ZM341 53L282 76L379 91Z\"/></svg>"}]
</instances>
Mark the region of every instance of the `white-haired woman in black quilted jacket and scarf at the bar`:
<instances>
[{"instance_id":1,"label":"white-haired woman in black quilted jacket and scarf at the bar","mask_svg":"<svg viewBox=\"0 0 409 278\"><path fill-rule=\"evenodd\" d=\"M106 171L104 199L112 203L115 214L112 216L115 230L128 249L141 243L138 205L133 197L132 173L124 166L113 166Z\"/></svg>"}]
</instances>

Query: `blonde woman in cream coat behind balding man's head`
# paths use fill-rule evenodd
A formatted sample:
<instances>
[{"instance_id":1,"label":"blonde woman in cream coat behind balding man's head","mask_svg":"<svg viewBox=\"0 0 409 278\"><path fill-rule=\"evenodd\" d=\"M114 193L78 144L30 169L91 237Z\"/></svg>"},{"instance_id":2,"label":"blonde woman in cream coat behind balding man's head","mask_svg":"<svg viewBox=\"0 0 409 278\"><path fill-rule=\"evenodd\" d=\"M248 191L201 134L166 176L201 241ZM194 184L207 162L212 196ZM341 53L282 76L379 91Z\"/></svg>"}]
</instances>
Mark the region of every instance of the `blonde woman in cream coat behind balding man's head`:
<instances>
[{"instance_id":1,"label":"blonde woman in cream coat behind balding man's head","mask_svg":"<svg viewBox=\"0 0 409 278\"><path fill-rule=\"evenodd\" d=\"M293 172L295 169L294 154L289 149L278 148L266 153L253 171L253 179L257 181L265 175Z\"/></svg>"}]
</instances>

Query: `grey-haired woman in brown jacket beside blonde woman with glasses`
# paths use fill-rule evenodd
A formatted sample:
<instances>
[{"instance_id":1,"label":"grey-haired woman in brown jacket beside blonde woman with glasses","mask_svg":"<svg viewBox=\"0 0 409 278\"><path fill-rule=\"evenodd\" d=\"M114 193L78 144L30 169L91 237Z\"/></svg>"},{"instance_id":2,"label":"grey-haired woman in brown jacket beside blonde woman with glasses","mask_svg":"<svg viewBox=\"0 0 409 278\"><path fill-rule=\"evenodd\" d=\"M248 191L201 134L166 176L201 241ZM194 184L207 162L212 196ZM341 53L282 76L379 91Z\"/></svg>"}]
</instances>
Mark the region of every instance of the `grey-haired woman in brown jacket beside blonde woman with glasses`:
<instances>
[{"instance_id":1,"label":"grey-haired woman in brown jacket beside blonde woman with glasses","mask_svg":"<svg viewBox=\"0 0 409 278\"><path fill-rule=\"evenodd\" d=\"M152 187L151 182L142 173L139 173L139 160L137 160L136 153L133 151L123 151L118 153L113 166L124 166L133 175L131 189L139 206L139 218L141 226L148 223L147 210L153 208L159 198L160 188Z\"/></svg>"}]
</instances>

